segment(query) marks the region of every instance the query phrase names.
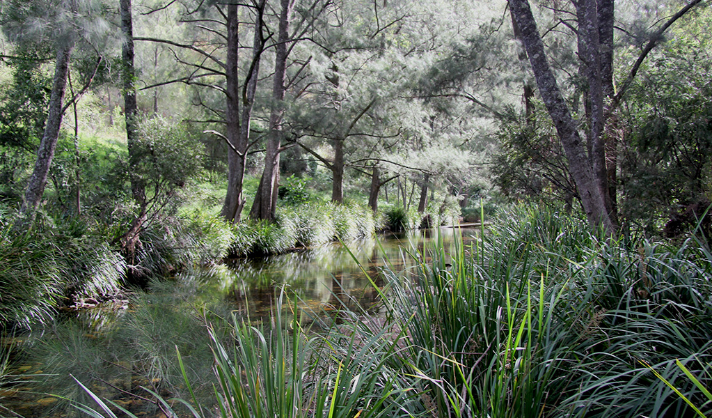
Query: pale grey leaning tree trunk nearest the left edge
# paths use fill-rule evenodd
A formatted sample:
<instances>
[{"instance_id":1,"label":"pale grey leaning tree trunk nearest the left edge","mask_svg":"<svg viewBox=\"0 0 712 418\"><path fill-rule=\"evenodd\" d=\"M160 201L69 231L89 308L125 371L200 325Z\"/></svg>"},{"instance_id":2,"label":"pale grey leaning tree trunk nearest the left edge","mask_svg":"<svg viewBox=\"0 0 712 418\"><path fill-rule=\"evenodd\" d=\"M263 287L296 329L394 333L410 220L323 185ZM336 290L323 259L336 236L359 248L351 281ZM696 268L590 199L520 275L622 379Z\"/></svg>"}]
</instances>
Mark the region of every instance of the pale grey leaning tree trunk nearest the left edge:
<instances>
[{"instance_id":1,"label":"pale grey leaning tree trunk nearest the left edge","mask_svg":"<svg viewBox=\"0 0 712 418\"><path fill-rule=\"evenodd\" d=\"M55 60L54 78L52 80L52 93L50 95L47 111L47 122L45 125L40 147L37 150L37 159L32 175L25 189L25 199L20 207L21 216L26 217L22 224L29 224L33 221L37 208L42 200L45 186L47 185L47 175L52 164L54 152L57 148L59 130L62 125L62 105L64 93L67 88L67 77L69 74L69 62L72 56L74 43L67 43L57 51Z\"/></svg>"}]
</instances>

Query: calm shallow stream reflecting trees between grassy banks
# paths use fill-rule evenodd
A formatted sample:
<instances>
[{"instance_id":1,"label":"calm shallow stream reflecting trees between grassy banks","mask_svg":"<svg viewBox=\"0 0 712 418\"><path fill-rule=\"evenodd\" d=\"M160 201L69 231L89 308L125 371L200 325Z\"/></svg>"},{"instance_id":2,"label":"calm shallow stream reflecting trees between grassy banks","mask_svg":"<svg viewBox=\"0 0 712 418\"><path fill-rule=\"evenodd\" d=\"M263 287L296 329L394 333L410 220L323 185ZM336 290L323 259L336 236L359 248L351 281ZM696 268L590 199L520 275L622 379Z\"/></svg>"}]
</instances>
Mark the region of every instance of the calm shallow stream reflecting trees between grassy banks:
<instances>
[{"instance_id":1,"label":"calm shallow stream reflecting trees between grassy banks","mask_svg":"<svg viewBox=\"0 0 712 418\"><path fill-rule=\"evenodd\" d=\"M132 295L129 305L65 312L48 328L16 338L21 350L8 369L11 383L0 386L0 417L79 416L66 400L48 395L91 403L74 378L135 414L159 417L161 411L142 387L167 397L189 397L176 348L196 382L197 395L210 399L213 375L206 323L225 326L220 318L234 314L253 323L268 320L283 286L298 301L303 321L340 308L373 311L378 291L371 281L384 285L381 268L412 268L409 254L427 258L424 249L434 239L452 251L460 232L465 242L476 234L472 229L409 231L346 246L335 243L230 260L152 283L150 291ZM224 335L229 338L227 330Z\"/></svg>"}]
</instances>

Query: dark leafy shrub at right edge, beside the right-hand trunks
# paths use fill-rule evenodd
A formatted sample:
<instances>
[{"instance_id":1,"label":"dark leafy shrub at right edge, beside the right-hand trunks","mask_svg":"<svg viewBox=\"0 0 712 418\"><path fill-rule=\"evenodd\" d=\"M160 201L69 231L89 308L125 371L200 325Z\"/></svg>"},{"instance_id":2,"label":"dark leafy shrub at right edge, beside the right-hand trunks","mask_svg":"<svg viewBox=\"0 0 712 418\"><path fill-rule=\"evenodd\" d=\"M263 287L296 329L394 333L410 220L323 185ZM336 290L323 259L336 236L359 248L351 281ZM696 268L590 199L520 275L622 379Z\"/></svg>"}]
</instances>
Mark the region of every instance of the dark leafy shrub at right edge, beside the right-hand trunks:
<instances>
[{"instance_id":1,"label":"dark leafy shrub at right edge, beside the right-hand trunks","mask_svg":"<svg viewBox=\"0 0 712 418\"><path fill-rule=\"evenodd\" d=\"M712 196L712 83L703 75L712 66L703 52L710 48L709 41L701 45L684 35L666 43L650 58L627 106L633 129L621 210L644 224L669 219L669 236L692 229Z\"/></svg>"}]
</instances>

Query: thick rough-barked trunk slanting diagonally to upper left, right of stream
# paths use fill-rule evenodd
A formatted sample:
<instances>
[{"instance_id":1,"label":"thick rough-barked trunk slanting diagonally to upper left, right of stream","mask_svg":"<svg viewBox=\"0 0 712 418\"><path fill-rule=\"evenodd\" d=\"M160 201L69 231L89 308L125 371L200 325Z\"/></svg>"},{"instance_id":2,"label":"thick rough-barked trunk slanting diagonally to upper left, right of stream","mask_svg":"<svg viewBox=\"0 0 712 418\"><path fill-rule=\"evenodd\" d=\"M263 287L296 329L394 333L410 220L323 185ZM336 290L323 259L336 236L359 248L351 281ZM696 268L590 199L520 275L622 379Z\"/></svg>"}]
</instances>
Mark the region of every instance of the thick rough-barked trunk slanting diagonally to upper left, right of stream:
<instances>
[{"instance_id":1,"label":"thick rough-barked trunk slanting diagonally to upper left, right of stream","mask_svg":"<svg viewBox=\"0 0 712 418\"><path fill-rule=\"evenodd\" d=\"M608 234L613 234L615 226L606 208L600 179L596 177L597 173L587 156L586 147L578 134L576 123L549 66L544 43L536 28L529 3L527 0L509 0L509 5L522 33L522 40L537 80L539 92L566 152L569 171L576 183L589 224L592 227L602 226Z\"/></svg>"}]
</instances>

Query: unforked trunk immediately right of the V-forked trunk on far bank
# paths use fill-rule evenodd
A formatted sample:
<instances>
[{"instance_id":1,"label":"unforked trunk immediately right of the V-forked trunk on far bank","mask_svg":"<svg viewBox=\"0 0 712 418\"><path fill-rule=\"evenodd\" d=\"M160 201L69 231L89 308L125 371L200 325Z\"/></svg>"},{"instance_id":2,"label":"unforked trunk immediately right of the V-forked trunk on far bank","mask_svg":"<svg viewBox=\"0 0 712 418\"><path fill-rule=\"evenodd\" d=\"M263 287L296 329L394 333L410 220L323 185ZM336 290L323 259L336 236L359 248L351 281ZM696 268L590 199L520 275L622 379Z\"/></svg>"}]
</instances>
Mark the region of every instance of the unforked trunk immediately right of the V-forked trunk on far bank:
<instances>
[{"instance_id":1,"label":"unforked trunk immediately right of the V-forked trunk on far bank","mask_svg":"<svg viewBox=\"0 0 712 418\"><path fill-rule=\"evenodd\" d=\"M289 40L289 21L292 13L290 0L281 0L282 11L279 16L279 34L275 47L276 57L272 87L273 108L269 121L269 136L265 152L265 167L262 172L255 201L252 204L252 219L274 220L277 209L279 183L279 155L282 140L282 119L284 115L284 78L287 70L287 42Z\"/></svg>"}]
</instances>

